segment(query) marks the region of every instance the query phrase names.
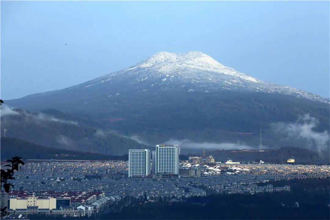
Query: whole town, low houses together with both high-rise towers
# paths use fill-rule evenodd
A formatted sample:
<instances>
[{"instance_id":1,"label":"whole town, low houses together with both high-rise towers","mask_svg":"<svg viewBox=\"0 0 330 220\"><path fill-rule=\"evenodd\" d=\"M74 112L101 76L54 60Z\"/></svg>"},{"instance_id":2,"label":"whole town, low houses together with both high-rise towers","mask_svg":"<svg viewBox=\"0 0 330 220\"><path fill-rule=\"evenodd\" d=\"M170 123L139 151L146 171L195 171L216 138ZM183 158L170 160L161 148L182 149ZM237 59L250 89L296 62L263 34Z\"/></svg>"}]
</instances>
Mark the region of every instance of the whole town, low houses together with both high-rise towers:
<instances>
[{"instance_id":1,"label":"whole town, low houses together with both high-rise towers","mask_svg":"<svg viewBox=\"0 0 330 220\"><path fill-rule=\"evenodd\" d=\"M1 192L7 215L97 216L133 202L181 202L193 196L290 191L276 180L329 177L329 165L240 164L212 156L180 161L178 145L129 150L128 161L28 161L15 172L13 191Z\"/></svg>"}]
</instances>

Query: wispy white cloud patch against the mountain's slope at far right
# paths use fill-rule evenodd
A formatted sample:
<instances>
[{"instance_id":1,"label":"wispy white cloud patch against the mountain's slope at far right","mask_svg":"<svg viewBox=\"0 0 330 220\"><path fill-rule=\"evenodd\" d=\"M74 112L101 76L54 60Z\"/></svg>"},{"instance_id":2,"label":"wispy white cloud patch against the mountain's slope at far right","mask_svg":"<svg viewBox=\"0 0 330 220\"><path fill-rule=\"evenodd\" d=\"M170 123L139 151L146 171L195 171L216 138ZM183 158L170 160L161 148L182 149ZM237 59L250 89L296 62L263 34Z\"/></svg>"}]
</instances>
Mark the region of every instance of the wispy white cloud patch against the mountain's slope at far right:
<instances>
[{"instance_id":1,"label":"wispy white cloud patch against the mountain's slope at far right","mask_svg":"<svg viewBox=\"0 0 330 220\"><path fill-rule=\"evenodd\" d=\"M287 138L304 140L305 145L312 150L324 150L329 148L329 132L316 132L318 120L310 114L300 116L294 123L274 123L272 128Z\"/></svg>"}]
</instances>

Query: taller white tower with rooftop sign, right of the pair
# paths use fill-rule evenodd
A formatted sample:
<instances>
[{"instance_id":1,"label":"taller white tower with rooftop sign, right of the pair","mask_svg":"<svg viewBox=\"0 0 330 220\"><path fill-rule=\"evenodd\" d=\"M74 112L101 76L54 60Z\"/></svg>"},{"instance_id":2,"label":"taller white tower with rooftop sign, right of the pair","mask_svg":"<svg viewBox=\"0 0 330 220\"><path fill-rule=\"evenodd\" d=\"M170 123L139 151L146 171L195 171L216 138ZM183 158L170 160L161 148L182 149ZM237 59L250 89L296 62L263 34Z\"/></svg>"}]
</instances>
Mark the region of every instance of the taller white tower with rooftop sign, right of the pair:
<instances>
[{"instance_id":1,"label":"taller white tower with rooftop sign, right of the pair","mask_svg":"<svg viewBox=\"0 0 330 220\"><path fill-rule=\"evenodd\" d=\"M156 145L156 173L179 174L179 145Z\"/></svg>"}]
</instances>

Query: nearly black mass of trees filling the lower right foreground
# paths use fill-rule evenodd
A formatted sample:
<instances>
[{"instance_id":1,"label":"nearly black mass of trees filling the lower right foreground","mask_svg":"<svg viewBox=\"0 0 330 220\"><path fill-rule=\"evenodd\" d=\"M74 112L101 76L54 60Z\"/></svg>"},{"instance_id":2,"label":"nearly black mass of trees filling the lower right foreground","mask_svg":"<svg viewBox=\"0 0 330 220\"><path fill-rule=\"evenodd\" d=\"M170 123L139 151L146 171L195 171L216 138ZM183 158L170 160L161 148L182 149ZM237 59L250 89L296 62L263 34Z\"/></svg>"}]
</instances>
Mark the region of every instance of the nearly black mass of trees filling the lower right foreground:
<instances>
[{"instance_id":1,"label":"nearly black mass of trees filling the lower right foreground","mask_svg":"<svg viewBox=\"0 0 330 220\"><path fill-rule=\"evenodd\" d=\"M110 212L102 219L330 219L328 188L315 190L317 184L323 186L329 179L311 179L316 187L311 190L302 186L305 180L302 184L299 181L291 185L291 192L210 195L193 197L186 202L137 203L120 212Z\"/></svg>"}]
</instances>

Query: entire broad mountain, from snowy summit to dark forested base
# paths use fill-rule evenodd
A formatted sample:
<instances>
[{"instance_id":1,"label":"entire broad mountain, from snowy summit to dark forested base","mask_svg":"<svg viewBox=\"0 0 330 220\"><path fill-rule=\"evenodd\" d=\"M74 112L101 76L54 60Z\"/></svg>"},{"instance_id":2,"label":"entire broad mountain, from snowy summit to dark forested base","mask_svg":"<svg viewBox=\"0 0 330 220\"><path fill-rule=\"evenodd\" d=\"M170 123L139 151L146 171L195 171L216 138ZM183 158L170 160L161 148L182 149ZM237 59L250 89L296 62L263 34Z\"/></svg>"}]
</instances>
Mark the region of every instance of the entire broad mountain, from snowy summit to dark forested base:
<instances>
[{"instance_id":1,"label":"entire broad mountain, from snowy summit to dark forested base","mask_svg":"<svg viewBox=\"0 0 330 220\"><path fill-rule=\"evenodd\" d=\"M5 104L77 114L94 127L152 145L189 139L257 146L262 122L265 146L310 147L311 140L283 139L273 128L276 123L297 123L305 114L315 119L313 132L329 130L328 99L263 82L195 51L157 53L88 82Z\"/></svg>"}]
</instances>

